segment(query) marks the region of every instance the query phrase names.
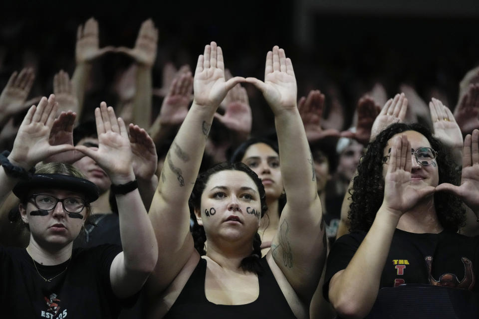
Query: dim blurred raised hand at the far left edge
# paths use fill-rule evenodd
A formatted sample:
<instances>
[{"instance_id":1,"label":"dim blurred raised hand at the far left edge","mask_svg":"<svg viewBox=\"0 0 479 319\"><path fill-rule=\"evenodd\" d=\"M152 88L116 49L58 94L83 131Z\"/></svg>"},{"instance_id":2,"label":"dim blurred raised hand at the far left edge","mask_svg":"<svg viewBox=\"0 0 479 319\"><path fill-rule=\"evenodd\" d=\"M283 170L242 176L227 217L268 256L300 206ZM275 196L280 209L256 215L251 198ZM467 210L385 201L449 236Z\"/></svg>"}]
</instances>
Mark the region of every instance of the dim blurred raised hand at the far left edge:
<instances>
[{"instance_id":1,"label":"dim blurred raised hand at the far left edge","mask_svg":"<svg viewBox=\"0 0 479 319\"><path fill-rule=\"evenodd\" d=\"M13 72L0 94L0 125L10 116L31 106L25 105L35 74L30 68Z\"/></svg>"}]
</instances>

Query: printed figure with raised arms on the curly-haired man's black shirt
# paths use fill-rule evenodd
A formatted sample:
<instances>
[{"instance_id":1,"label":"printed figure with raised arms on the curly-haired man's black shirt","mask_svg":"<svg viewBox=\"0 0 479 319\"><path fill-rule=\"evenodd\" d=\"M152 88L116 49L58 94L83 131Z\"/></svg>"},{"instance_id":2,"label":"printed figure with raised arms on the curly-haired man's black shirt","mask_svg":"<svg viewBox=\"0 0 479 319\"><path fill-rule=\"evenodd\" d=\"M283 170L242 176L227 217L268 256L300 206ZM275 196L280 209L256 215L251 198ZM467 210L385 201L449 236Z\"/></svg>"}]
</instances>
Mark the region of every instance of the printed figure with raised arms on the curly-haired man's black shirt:
<instances>
[{"instance_id":1,"label":"printed figure with raised arms on the curly-haired man's black shirt","mask_svg":"<svg viewBox=\"0 0 479 319\"><path fill-rule=\"evenodd\" d=\"M431 274L431 269L433 268L433 257L426 256L425 260L426 265L428 266L429 283L431 285L461 288L467 290L473 289L474 283L476 281L476 276L474 276L473 263L469 259L465 257L461 258L464 264L464 278L461 281L459 281L458 277L455 274L450 273L442 274L439 277L439 280L434 279L433 275Z\"/></svg>"}]
</instances>

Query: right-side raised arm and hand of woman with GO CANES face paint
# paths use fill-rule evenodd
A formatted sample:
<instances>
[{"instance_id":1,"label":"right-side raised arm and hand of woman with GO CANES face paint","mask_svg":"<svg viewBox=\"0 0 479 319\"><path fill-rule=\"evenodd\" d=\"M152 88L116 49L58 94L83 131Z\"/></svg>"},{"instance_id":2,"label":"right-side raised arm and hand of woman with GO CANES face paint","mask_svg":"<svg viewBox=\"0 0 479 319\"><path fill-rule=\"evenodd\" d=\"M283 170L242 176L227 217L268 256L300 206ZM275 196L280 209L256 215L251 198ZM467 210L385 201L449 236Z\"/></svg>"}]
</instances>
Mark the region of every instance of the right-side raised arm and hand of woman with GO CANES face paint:
<instances>
[{"instance_id":1,"label":"right-side raised arm and hand of woman with GO CANES face paint","mask_svg":"<svg viewBox=\"0 0 479 319\"><path fill-rule=\"evenodd\" d=\"M309 304L326 257L326 235L314 163L296 106L296 79L284 50L266 56L264 82L246 78L274 113L284 190L288 198L270 253L303 302ZM268 253L269 254L269 253Z\"/></svg>"}]
</instances>

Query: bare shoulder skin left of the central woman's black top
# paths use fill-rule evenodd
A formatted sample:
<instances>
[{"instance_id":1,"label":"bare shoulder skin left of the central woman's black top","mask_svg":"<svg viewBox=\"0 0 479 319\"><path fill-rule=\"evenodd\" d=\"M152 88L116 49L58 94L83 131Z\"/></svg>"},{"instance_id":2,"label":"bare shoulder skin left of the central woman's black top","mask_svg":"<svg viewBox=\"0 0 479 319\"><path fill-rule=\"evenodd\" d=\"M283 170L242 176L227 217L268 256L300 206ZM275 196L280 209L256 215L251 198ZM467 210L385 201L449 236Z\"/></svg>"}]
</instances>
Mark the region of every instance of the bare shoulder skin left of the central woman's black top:
<instances>
[{"instance_id":1,"label":"bare shoulder skin left of the central woman's black top","mask_svg":"<svg viewBox=\"0 0 479 319\"><path fill-rule=\"evenodd\" d=\"M200 261L200 254L195 250L180 270L173 282L158 296L148 296L150 299L150 310L148 318L163 318L180 296L188 279Z\"/></svg>"}]
</instances>

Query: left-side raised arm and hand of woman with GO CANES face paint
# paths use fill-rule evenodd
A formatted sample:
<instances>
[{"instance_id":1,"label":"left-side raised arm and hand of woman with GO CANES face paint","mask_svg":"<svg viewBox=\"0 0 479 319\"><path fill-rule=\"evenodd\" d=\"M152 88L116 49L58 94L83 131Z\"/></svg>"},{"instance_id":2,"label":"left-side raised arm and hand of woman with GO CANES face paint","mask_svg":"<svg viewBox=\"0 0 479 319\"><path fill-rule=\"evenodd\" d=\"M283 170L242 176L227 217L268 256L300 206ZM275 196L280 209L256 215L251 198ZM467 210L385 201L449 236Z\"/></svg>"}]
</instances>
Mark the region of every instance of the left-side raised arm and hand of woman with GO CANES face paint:
<instances>
[{"instance_id":1,"label":"left-side raised arm and hand of woman with GO CANES face paint","mask_svg":"<svg viewBox=\"0 0 479 319\"><path fill-rule=\"evenodd\" d=\"M225 81L223 52L215 42L205 47L195 71L193 105L176 135L160 176L150 208L159 243L159 256L150 280L152 293L167 287L192 254L188 199L205 150L213 116L228 91L244 80ZM198 255L199 256L199 255Z\"/></svg>"}]
</instances>

